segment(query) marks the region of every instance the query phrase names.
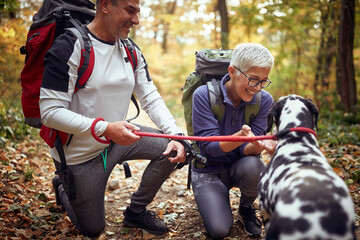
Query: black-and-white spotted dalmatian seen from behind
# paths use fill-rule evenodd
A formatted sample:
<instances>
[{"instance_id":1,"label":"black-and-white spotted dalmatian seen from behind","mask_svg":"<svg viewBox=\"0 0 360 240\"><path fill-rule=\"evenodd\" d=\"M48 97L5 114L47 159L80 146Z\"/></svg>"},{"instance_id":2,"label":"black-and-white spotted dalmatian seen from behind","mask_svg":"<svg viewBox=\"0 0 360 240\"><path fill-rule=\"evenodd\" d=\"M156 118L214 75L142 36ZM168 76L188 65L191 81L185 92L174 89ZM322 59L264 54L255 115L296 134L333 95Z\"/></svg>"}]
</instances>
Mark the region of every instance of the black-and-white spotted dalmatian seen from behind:
<instances>
[{"instance_id":1,"label":"black-and-white spotted dalmatian seen from behind","mask_svg":"<svg viewBox=\"0 0 360 240\"><path fill-rule=\"evenodd\" d=\"M317 128L318 115L311 100L297 95L280 98L269 110L267 131L275 123L279 141L258 185L266 239L355 239L348 188L320 151L315 132L287 131Z\"/></svg>"}]
</instances>

